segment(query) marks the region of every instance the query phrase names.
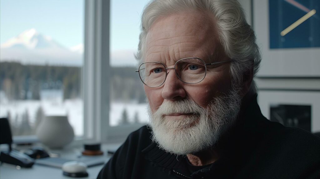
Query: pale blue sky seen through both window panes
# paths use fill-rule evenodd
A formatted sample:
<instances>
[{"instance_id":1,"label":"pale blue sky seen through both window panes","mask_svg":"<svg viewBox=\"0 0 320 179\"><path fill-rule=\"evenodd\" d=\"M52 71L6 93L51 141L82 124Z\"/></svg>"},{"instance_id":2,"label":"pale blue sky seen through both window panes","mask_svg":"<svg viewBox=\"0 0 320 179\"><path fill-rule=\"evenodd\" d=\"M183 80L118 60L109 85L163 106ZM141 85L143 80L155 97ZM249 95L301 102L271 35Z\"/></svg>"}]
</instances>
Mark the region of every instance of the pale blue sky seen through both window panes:
<instances>
[{"instance_id":1,"label":"pale blue sky seen through both window panes","mask_svg":"<svg viewBox=\"0 0 320 179\"><path fill-rule=\"evenodd\" d=\"M111 0L110 53L133 53L147 0ZM0 44L35 28L70 48L84 41L84 0L0 0Z\"/></svg>"}]
</instances>

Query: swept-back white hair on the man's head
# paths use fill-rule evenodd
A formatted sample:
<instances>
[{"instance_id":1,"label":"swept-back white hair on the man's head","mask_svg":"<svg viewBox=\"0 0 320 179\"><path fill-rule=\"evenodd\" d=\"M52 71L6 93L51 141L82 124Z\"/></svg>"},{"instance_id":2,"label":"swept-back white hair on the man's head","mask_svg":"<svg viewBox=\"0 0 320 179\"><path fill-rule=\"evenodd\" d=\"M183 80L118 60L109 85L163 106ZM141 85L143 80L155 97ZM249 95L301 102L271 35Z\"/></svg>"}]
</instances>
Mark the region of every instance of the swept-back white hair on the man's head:
<instances>
[{"instance_id":1,"label":"swept-back white hair on the man's head","mask_svg":"<svg viewBox=\"0 0 320 179\"><path fill-rule=\"evenodd\" d=\"M209 11L214 15L219 39L226 55L233 60L230 75L233 83L241 84L245 73L259 70L261 61L256 37L245 20L244 10L236 0L152 0L143 10L137 60L143 61L146 37L150 27L159 17L186 10ZM252 80L250 90L255 92Z\"/></svg>"}]
</instances>

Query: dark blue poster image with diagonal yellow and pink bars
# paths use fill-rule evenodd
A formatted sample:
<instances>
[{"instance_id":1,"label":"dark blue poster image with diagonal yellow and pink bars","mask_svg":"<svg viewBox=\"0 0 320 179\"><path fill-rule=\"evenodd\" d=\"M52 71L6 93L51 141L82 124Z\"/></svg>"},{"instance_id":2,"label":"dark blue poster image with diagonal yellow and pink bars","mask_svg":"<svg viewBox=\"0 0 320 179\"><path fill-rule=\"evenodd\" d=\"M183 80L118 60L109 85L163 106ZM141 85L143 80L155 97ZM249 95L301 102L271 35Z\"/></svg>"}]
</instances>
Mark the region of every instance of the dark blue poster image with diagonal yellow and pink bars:
<instances>
[{"instance_id":1,"label":"dark blue poster image with diagonal yellow and pink bars","mask_svg":"<svg viewBox=\"0 0 320 179\"><path fill-rule=\"evenodd\" d=\"M320 47L320 0L269 0L270 48Z\"/></svg>"}]
</instances>

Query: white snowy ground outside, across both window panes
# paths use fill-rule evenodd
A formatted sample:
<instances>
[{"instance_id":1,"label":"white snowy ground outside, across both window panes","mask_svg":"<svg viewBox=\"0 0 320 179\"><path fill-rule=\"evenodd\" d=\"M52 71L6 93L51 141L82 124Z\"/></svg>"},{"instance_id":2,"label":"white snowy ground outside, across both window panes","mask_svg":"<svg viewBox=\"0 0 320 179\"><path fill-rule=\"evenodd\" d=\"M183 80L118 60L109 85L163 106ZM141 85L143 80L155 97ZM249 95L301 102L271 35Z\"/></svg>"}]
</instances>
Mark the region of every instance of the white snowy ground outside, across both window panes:
<instances>
[{"instance_id":1,"label":"white snowy ground outside, across both window panes","mask_svg":"<svg viewBox=\"0 0 320 179\"><path fill-rule=\"evenodd\" d=\"M54 93L54 94L52 94ZM36 121L36 111L42 107L46 116L63 115L68 116L69 123L73 127L76 136L84 134L83 101L81 99L68 99L63 101L60 92L42 92L42 100L20 100L8 101L4 98L4 93L0 92L0 116L6 117L8 113L13 120L17 119L20 123L22 114L28 113L31 126ZM133 123L138 118L139 123L148 123L147 104L136 102L123 103L112 102L109 111L110 126L119 125L124 109L127 112L127 121ZM10 112L9 112L10 111Z\"/></svg>"}]
</instances>

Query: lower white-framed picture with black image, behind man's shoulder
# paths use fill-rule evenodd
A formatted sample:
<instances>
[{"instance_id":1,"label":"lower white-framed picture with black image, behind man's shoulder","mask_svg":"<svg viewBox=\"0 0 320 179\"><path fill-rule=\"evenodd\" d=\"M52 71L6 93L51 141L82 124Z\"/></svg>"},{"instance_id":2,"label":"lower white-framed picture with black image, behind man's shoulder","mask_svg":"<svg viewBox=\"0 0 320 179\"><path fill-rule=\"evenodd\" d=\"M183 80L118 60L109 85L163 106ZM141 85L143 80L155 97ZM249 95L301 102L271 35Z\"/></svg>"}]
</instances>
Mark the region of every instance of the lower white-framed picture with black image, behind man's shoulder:
<instances>
[{"instance_id":1,"label":"lower white-framed picture with black image, behind man's shoulder","mask_svg":"<svg viewBox=\"0 0 320 179\"><path fill-rule=\"evenodd\" d=\"M320 132L320 92L260 90L258 103L271 121Z\"/></svg>"}]
</instances>

